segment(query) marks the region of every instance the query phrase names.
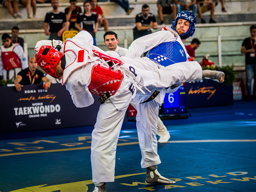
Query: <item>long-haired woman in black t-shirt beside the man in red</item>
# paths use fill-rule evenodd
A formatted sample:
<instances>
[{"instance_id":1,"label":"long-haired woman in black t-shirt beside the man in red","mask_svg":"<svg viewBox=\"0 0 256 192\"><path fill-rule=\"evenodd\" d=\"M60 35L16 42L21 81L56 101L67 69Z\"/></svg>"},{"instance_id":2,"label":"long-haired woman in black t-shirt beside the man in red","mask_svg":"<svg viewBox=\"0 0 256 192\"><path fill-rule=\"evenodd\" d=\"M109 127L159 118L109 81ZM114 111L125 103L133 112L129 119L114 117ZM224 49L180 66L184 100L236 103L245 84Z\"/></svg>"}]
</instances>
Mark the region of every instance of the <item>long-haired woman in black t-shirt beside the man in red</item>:
<instances>
[{"instance_id":1,"label":"long-haired woman in black t-shirt beside the man in red","mask_svg":"<svg viewBox=\"0 0 256 192\"><path fill-rule=\"evenodd\" d=\"M97 15L95 12L92 12L91 2L84 2L84 13L79 13L77 15L77 20L75 27L80 31L88 31L93 38L93 45L96 46L96 36L98 29Z\"/></svg>"}]
</instances>

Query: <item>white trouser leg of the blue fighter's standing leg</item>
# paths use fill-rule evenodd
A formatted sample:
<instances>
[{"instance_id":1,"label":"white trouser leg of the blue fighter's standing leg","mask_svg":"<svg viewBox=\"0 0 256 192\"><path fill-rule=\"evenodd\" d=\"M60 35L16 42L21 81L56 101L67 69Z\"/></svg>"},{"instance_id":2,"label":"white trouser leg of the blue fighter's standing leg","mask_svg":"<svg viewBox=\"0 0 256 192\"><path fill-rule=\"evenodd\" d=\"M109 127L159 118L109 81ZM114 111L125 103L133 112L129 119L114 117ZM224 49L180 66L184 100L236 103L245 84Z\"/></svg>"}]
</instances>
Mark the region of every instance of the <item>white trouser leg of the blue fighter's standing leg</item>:
<instances>
[{"instance_id":1,"label":"white trouser leg of the blue fighter's standing leg","mask_svg":"<svg viewBox=\"0 0 256 192\"><path fill-rule=\"evenodd\" d=\"M154 91L154 90L151 90ZM136 94L137 116L136 126L139 137L140 151L141 151L141 168L146 168L152 165L160 164L160 158L157 154L157 117L159 104L155 101L147 103L141 102L147 100L152 93L145 92Z\"/></svg>"}]
</instances>

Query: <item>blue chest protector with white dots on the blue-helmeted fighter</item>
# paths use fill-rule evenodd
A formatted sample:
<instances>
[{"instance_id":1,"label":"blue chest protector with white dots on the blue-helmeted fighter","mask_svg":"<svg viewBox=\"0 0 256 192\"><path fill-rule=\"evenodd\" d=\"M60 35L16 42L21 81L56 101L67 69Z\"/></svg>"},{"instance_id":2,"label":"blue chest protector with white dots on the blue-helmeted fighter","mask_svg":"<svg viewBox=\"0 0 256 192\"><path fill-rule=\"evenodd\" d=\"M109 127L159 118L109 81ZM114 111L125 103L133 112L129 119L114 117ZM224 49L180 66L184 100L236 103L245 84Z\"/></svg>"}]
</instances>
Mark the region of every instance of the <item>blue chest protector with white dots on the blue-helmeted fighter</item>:
<instances>
[{"instance_id":1,"label":"blue chest protector with white dots on the blue-helmeted fighter","mask_svg":"<svg viewBox=\"0 0 256 192\"><path fill-rule=\"evenodd\" d=\"M178 41L159 44L149 50L146 57L164 67L187 61L186 51Z\"/></svg>"}]
</instances>

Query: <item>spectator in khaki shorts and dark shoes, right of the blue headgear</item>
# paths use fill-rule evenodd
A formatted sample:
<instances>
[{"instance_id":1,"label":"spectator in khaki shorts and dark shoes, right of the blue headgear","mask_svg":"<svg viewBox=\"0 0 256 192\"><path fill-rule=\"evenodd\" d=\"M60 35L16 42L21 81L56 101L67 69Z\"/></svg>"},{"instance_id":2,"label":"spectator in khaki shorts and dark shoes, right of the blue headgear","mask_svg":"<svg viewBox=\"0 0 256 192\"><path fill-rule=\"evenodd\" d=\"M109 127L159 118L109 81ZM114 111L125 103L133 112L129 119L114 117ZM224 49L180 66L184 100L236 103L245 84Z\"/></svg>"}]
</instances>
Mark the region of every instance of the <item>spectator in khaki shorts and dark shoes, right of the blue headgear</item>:
<instances>
[{"instance_id":1,"label":"spectator in khaki shorts and dark shoes, right of the blue headgear","mask_svg":"<svg viewBox=\"0 0 256 192\"><path fill-rule=\"evenodd\" d=\"M211 10L211 16L210 16L209 23L216 23L216 21L213 20L213 15L214 15L214 11L215 11L215 3L213 3L212 0L206 0L206 1L196 0L196 4L197 4L198 15L201 18L201 23L206 23L202 13L209 11L209 10Z\"/></svg>"}]
</instances>

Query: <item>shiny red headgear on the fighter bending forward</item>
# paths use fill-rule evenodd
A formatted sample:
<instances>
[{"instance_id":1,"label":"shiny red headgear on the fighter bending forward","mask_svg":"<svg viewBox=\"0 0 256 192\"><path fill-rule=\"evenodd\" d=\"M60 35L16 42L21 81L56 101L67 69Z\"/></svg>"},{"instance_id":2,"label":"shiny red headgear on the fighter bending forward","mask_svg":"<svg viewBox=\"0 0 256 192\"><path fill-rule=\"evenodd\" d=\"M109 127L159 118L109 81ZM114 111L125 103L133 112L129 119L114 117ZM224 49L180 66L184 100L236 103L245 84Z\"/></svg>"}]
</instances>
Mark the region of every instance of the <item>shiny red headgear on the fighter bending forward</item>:
<instances>
[{"instance_id":1,"label":"shiny red headgear on the fighter bending forward","mask_svg":"<svg viewBox=\"0 0 256 192\"><path fill-rule=\"evenodd\" d=\"M49 49L48 52L47 50L45 50L47 48ZM62 57L63 55L53 49L52 46L43 45L42 47L40 47L38 52L36 52L36 63L50 76L60 78L56 74L55 67Z\"/></svg>"}]
</instances>

